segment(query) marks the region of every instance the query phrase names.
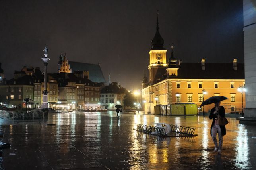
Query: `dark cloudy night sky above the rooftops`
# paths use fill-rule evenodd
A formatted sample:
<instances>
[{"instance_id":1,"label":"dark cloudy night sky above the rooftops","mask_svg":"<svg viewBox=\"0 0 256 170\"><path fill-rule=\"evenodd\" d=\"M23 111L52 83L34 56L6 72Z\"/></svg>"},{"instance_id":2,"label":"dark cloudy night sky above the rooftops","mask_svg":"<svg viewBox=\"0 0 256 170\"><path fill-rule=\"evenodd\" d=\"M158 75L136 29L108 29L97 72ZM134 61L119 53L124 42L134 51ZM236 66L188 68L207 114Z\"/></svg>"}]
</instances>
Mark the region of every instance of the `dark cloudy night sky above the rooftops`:
<instances>
[{"instance_id":1,"label":"dark cloudy night sky above the rooftops","mask_svg":"<svg viewBox=\"0 0 256 170\"><path fill-rule=\"evenodd\" d=\"M0 0L0 62L7 78L23 66L49 72L60 53L68 60L100 63L108 81L141 88L149 50L159 31L183 62L244 62L242 0ZM167 51L167 59L170 52Z\"/></svg>"}]
</instances>

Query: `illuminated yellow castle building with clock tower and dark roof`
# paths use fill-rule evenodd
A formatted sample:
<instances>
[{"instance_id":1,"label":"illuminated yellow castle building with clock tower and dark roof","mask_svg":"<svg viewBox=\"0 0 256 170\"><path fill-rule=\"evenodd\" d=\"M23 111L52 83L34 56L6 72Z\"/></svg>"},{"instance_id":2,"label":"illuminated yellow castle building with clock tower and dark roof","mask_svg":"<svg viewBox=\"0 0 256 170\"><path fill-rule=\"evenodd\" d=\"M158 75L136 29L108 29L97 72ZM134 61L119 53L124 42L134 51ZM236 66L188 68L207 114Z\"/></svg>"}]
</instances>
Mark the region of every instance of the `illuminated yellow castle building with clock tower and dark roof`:
<instances>
[{"instance_id":1,"label":"illuminated yellow castle building with clock tower and dark roof","mask_svg":"<svg viewBox=\"0 0 256 170\"><path fill-rule=\"evenodd\" d=\"M183 63L174 57L173 46L171 57L166 62L167 50L159 33L158 17L156 28L149 51L149 82L145 75L142 82L145 113L154 113L154 106L159 104L194 103L200 106L211 96L229 98L221 103L226 113L241 113L242 94L238 88L244 85L244 63L237 63L236 59L232 63L207 63L206 59L198 63ZM204 109L208 112L212 107L206 105Z\"/></svg>"}]
</instances>

